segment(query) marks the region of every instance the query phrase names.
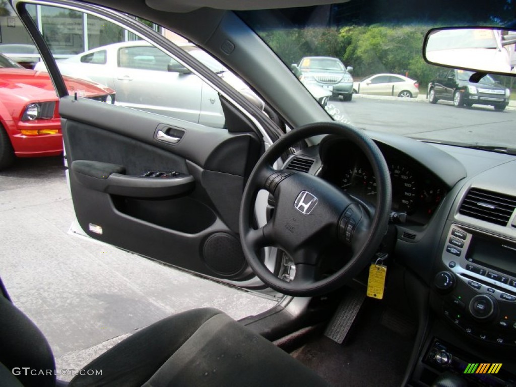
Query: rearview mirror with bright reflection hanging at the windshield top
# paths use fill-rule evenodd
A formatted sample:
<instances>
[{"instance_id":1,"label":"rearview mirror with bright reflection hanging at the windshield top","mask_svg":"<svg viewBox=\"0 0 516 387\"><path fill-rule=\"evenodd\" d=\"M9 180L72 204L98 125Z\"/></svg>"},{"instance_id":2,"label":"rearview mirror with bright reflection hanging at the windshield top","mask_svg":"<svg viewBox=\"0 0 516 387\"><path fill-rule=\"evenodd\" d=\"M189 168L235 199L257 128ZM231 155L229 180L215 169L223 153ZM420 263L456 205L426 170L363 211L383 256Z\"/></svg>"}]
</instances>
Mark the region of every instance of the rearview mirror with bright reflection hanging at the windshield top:
<instances>
[{"instance_id":1,"label":"rearview mirror with bright reflection hanging at the windshield top","mask_svg":"<svg viewBox=\"0 0 516 387\"><path fill-rule=\"evenodd\" d=\"M514 74L516 31L504 28L432 28L423 45L431 65L484 73Z\"/></svg>"}]
</instances>

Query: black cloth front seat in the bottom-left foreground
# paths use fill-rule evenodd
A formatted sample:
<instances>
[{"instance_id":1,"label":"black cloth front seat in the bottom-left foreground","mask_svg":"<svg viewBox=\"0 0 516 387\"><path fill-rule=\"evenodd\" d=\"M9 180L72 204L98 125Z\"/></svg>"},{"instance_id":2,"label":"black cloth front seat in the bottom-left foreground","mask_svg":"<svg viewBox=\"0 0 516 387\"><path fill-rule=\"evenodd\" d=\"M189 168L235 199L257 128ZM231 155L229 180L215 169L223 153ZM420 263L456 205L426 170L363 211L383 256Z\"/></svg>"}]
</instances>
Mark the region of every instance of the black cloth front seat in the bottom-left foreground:
<instances>
[{"instance_id":1,"label":"black cloth front seat in the bottom-left foreground","mask_svg":"<svg viewBox=\"0 0 516 387\"><path fill-rule=\"evenodd\" d=\"M41 331L2 296L0 327L0 385L55 386L55 375L13 375L17 367L54 370L55 363ZM85 375L76 375L69 387L328 385L288 353L213 308L160 320L83 369Z\"/></svg>"}]
</instances>

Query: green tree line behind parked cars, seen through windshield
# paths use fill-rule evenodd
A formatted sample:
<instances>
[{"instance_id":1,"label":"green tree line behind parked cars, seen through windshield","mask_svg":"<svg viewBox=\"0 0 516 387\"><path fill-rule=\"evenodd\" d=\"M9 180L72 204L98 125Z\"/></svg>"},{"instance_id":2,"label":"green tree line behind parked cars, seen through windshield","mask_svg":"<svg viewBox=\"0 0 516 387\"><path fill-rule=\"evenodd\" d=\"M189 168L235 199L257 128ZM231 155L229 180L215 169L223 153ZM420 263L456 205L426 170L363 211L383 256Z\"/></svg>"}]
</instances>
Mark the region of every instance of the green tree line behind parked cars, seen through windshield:
<instances>
[{"instance_id":1,"label":"green tree line behind parked cars, seen through windshield","mask_svg":"<svg viewBox=\"0 0 516 387\"><path fill-rule=\"evenodd\" d=\"M429 27L345 26L265 31L261 35L289 66L303 56L331 56L353 67L353 78L377 73L407 75L426 86L442 68L423 60L423 40Z\"/></svg>"}]
</instances>

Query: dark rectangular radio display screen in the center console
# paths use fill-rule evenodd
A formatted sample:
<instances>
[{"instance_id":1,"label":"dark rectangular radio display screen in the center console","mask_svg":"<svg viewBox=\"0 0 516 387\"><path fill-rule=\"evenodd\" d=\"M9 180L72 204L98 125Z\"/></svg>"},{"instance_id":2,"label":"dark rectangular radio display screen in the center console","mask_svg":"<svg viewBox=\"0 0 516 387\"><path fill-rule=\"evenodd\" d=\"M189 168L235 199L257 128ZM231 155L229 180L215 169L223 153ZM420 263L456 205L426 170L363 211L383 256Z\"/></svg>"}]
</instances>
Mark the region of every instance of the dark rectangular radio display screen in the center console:
<instances>
[{"instance_id":1,"label":"dark rectangular radio display screen in the center console","mask_svg":"<svg viewBox=\"0 0 516 387\"><path fill-rule=\"evenodd\" d=\"M467 249L466 260L516 276L516 244L502 239L474 235Z\"/></svg>"}]
</instances>

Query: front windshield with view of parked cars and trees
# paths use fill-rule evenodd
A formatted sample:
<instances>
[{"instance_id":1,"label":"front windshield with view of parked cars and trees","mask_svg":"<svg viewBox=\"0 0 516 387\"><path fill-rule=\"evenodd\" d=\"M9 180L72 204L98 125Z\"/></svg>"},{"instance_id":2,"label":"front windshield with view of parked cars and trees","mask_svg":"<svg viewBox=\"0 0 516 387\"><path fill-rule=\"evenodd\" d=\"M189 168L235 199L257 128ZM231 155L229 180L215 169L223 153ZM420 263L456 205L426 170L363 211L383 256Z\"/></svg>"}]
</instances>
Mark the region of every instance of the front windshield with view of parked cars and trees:
<instances>
[{"instance_id":1,"label":"front windshield with view of parked cars and trees","mask_svg":"<svg viewBox=\"0 0 516 387\"><path fill-rule=\"evenodd\" d=\"M316 87L332 93L326 110L334 120L416 139L516 148L516 78L491 74L475 84L467 82L470 71L443 78L450 69L422 55L430 28L507 25L513 2L349 0L238 14L312 94ZM498 31L479 29L462 39L504 50L499 58L516 74L515 45L499 42ZM349 78L308 69L336 63L352 68ZM360 82L372 76L374 82Z\"/></svg>"}]
</instances>

